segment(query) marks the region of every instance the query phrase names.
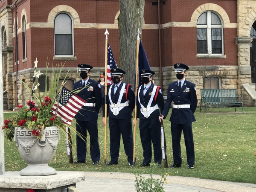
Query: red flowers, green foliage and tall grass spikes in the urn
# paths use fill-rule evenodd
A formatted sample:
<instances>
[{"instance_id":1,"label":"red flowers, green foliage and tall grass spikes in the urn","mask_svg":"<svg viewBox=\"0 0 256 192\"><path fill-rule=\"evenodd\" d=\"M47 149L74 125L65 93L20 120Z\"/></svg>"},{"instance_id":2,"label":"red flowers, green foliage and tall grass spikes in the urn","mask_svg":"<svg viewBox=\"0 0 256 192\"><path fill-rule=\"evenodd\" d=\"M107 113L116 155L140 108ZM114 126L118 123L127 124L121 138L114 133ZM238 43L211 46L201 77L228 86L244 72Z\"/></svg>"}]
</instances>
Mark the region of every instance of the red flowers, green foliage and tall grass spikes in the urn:
<instances>
[{"instance_id":1,"label":"red flowers, green foliage and tall grass spikes in the urn","mask_svg":"<svg viewBox=\"0 0 256 192\"><path fill-rule=\"evenodd\" d=\"M61 99L57 97L57 93L61 91L61 86L58 86L59 79L61 77L61 71L64 67L52 68L51 79L49 82L49 91L47 91L47 70L49 62L47 63L46 74L45 74L45 90L44 96L41 98L39 91L38 78L43 73L37 70L37 59L35 60L35 70L33 76L32 89L28 86L28 83L23 82L23 85L31 92L31 99L26 103L26 106L17 105L17 114L12 119L5 119L2 129L6 132L6 138L12 141L15 134L15 127L29 128L32 134L38 139L41 139L44 135L44 128L47 126L57 126L58 128L64 129L66 124L61 120L60 116L56 115L56 110L52 110L52 106L58 103ZM66 76L63 80L65 82ZM36 84L34 86L34 84ZM70 121L70 120L67 120Z\"/></svg>"}]
</instances>

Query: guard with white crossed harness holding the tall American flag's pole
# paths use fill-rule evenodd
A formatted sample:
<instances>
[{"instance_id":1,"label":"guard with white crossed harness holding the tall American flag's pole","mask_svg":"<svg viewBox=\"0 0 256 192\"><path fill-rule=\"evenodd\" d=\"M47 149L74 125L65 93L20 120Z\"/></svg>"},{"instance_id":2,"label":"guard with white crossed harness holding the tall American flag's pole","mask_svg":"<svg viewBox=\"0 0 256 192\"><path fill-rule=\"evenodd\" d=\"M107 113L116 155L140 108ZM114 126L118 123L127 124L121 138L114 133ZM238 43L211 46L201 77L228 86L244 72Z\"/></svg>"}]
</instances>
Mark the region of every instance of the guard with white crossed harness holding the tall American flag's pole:
<instances>
[{"instance_id":1,"label":"guard with white crossed harness holding the tall American flag's pole","mask_svg":"<svg viewBox=\"0 0 256 192\"><path fill-rule=\"evenodd\" d=\"M131 113L135 106L135 95L131 85L122 82L124 74L125 71L112 68L111 76L114 84L108 85L107 90L111 156L108 166L118 164L121 134L129 166L134 165ZM103 110L103 125L105 125L105 118L107 115L105 116Z\"/></svg>"}]
</instances>

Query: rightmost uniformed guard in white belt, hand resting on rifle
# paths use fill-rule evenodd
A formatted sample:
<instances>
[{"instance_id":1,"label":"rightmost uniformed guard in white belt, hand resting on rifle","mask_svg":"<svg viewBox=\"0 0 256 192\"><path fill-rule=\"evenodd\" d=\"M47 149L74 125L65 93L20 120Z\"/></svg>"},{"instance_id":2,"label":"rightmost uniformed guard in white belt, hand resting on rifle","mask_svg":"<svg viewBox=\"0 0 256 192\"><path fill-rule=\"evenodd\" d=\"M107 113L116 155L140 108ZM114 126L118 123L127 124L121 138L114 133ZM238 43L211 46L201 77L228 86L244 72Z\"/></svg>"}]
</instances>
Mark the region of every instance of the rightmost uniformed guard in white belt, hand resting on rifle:
<instances>
[{"instance_id":1,"label":"rightmost uniformed guard in white belt, hand resting on rifle","mask_svg":"<svg viewBox=\"0 0 256 192\"><path fill-rule=\"evenodd\" d=\"M194 169L195 150L192 133L192 122L195 121L194 112L198 99L196 96L195 84L185 79L188 66L181 63L174 64L177 73L177 81L169 84L167 100L162 112L162 119L165 119L172 101L172 115L170 117L172 132L173 160L172 168L181 166L180 137L183 131L186 145L186 156L189 169ZM159 119L161 122L161 119Z\"/></svg>"}]
</instances>

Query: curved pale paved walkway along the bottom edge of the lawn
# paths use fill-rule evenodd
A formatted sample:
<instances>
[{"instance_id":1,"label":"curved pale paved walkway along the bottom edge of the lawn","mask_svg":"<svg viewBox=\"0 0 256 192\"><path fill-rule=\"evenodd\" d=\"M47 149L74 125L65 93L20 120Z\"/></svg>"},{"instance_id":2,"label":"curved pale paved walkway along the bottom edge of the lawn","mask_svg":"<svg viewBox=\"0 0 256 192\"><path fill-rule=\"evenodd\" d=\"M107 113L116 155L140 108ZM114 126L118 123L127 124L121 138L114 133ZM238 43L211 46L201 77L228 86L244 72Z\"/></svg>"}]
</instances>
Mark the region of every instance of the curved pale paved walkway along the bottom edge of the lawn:
<instances>
[{"instance_id":1,"label":"curved pale paved walkway along the bottom edge of the lawn","mask_svg":"<svg viewBox=\"0 0 256 192\"><path fill-rule=\"evenodd\" d=\"M76 183L78 192L135 192L135 176L131 173L84 172L85 179ZM149 177L149 175L143 175ZM160 178L159 175L154 175ZM193 177L167 176L165 192L256 192L256 184L233 183L198 179Z\"/></svg>"}]
</instances>

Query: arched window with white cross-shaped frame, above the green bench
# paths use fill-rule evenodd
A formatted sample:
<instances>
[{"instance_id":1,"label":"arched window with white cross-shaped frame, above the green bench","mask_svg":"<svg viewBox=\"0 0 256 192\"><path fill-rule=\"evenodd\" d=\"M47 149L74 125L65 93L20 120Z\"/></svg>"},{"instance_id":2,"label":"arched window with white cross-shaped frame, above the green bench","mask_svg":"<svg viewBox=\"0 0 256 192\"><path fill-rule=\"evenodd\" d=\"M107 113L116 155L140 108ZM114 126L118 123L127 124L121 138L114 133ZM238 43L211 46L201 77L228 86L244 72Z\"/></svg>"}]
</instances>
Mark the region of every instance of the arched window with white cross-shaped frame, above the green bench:
<instances>
[{"instance_id":1,"label":"arched window with white cross-shaped frame, above the green bench","mask_svg":"<svg viewBox=\"0 0 256 192\"><path fill-rule=\"evenodd\" d=\"M221 18L214 12L202 13L197 20L198 54L223 55L223 26Z\"/></svg>"}]
</instances>

